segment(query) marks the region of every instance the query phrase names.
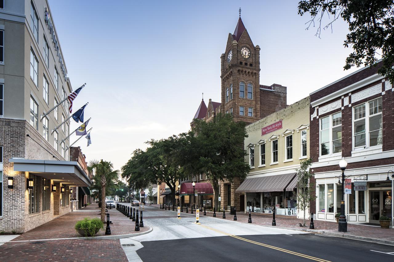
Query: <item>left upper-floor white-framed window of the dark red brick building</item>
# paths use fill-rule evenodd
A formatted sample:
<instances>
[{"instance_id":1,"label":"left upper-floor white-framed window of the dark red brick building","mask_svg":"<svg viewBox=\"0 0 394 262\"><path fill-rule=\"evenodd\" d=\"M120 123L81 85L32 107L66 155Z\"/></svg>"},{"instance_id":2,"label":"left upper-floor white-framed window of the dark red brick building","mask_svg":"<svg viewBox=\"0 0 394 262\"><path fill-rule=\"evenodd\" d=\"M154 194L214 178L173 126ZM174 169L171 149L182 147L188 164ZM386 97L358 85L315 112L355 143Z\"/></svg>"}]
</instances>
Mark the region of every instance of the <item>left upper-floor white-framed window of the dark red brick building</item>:
<instances>
[{"instance_id":1,"label":"left upper-floor white-framed window of the dark red brick building","mask_svg":"<svg viewBox=\"0 0 394 262\"><path fill-rule=\"evenodd\" d=\"M342 152L342 112L320 119L320 155Z\"/></svg>"}]
</instances>

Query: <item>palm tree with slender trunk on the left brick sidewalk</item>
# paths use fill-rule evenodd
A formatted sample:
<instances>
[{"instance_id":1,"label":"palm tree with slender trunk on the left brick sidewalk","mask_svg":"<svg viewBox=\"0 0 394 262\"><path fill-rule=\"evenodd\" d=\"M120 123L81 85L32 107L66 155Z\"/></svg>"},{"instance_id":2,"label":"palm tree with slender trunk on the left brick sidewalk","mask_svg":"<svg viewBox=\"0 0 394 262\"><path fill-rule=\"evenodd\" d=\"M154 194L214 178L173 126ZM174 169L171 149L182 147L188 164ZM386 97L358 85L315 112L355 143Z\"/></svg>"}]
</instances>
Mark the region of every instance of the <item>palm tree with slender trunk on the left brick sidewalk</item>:
<instances>
[{"instance_id":1,"label":"palm tree with slender trunk on the left brick sidewalk","mask_svg":"<svg viewBox=\"0 0 394 262\"><path fill-rule=\"evenodd\" d=\"M101 221L105 221L105 196L106 186L108 183L118 179L119 170L113 170L113 164L109 161L92 160L87 166L89 172L94 171L93 179L101 187Z\"/></svg>"}]
</instances>

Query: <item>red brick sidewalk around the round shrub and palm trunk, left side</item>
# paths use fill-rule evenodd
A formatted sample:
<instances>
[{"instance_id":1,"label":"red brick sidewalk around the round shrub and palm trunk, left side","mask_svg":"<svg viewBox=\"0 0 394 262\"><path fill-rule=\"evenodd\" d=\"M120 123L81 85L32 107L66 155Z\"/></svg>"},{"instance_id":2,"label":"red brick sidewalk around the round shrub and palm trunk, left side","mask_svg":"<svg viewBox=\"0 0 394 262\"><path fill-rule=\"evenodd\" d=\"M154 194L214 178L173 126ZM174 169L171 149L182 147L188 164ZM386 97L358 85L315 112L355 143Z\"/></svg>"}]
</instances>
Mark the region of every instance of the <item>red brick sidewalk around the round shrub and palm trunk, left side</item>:
<instances>
[{"instance_id":1,"label":"red brick sidewalk around the round shrub and palm trunk, left side","mask_svg":"<svg viewBox=\"0 0 394 262\"><path fill-rule=\"evenodd\" d=\"M59 218L49 221L48 223L45 223L44 225L23 233L22 235L15 238L14 241L82 237L80 234L78 234L78 232L75 231L75 223L84 218L100 218L100 208L97 207L98 204L93 203L85 209L97 209L97 212L78 210L65 214ZM134 231L135 222L121 214L116 210L116 208L108 209L108 212L110 213L110 220L113 223L110 225L112 235L136 233L136 231ZM105 227L106 224L104 224L104 229L100 229L100 231L95 236L104 236ZM149 230L149 226L145 225L145 227L140 228L139 232L144 232L147 230Z\"/></svg>"}]
</instances>

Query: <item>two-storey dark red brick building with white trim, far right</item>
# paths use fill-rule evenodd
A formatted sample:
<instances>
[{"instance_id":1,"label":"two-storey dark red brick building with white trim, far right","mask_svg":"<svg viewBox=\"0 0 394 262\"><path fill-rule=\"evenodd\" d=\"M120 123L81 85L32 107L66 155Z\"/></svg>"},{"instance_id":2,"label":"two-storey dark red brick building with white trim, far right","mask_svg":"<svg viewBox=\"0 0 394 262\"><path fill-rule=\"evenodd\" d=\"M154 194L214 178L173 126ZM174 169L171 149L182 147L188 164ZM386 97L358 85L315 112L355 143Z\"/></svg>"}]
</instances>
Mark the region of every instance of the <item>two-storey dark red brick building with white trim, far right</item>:
<instances>
[{"instance_id":1,"label":"two-storey dark red brick building with white trim, far right","mask_svg":"<svg viewBox=\"0 0 394 262\"><path fill-rule=\"evenodd\" d=\"M340 212L342 157L348 162L348 222L378 223L381 215L392 220L394 177L388 172L394 171L394 89L377 74L382 63L310 94L310 157L317 196L311 211L318 220L335 221Z\"/></svg>"}]
</instances>

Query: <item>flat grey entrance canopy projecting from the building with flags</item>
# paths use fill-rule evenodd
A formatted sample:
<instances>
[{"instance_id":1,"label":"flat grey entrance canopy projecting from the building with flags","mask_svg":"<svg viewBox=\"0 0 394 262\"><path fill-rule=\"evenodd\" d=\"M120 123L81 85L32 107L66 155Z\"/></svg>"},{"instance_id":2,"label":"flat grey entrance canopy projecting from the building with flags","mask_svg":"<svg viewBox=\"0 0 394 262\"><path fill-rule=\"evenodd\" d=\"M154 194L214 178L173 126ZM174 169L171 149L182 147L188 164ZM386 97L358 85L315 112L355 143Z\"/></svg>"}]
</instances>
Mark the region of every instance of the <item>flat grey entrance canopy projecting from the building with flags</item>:
<instances>
[{"instance_id":1,"label":"flat grey entrance canopy projecting from the building with flags","mask_svg":"<svg viewBox=\"0 0 394 262\"><path fill-rule=\"evenodd\" d=\"M76 161L33 160L11 158L14 171L29 172L56 183L68 184L69 186L90 186L91 181Z\"/></svg>"}]
</instances>

